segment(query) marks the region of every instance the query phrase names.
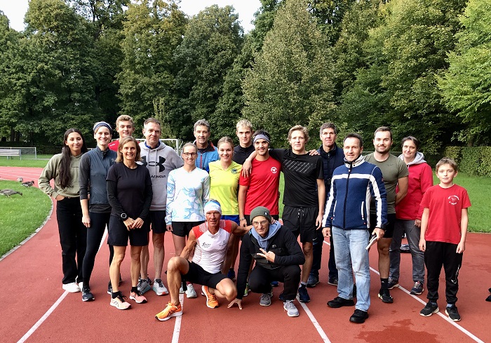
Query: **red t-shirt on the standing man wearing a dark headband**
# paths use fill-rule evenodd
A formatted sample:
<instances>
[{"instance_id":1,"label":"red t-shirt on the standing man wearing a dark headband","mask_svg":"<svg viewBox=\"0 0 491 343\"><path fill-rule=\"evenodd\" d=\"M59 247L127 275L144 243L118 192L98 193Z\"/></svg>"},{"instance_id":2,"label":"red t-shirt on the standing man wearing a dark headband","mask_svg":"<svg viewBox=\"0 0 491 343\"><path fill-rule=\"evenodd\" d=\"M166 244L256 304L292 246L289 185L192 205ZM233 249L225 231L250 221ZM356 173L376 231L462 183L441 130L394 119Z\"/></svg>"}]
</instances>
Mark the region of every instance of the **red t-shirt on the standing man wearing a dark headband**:
<instances>
[{"instance_id":1,"label":"red t-shirt on the standing man wearing a dark headband","mask_svg":"<svg viewBox=\"0 0 491 343\"><path fill-rule=\"evenodd\" d=\"M271 215L279 215L279 185L281 163L269 157L266 161L253 159L253 171L248 177L241 177L238 184L247 186L244 214L250 215L257 206L269 209Z\"/></svg>"}]
</instances>

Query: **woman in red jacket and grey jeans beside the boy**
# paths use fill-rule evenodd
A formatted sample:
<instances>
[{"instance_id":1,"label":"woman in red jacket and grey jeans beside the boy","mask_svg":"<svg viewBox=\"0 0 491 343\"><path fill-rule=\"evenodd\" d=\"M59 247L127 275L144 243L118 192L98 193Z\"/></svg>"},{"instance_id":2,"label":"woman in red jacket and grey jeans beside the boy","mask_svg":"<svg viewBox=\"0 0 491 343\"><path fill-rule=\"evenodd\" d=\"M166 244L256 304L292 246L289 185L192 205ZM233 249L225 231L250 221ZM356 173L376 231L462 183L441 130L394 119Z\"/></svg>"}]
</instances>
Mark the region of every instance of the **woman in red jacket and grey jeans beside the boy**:
<instances>
[{"instance_id":1,"label":"woman in red jacket and grey jeans beside the boy","mask_svg":"<svg viewBox=\"0 0 491 343\"><path fill-rule=\"evenodd\" d=\"M401 263L399 248L405 233L412 256L412 280L415 283L411 289L413 295L421 295L424 290L424 253L418 247L422 215L419 203L426 189L433 186L433 172L429 164L424 161L424 155L419 152L419 145L419 140L415 137L403 138L403 154L399 158L408 165L408 194L396 206L396 224L389 253L391 259L389 288L391 289L399 285Z\"/></svg>"}]
</instances>

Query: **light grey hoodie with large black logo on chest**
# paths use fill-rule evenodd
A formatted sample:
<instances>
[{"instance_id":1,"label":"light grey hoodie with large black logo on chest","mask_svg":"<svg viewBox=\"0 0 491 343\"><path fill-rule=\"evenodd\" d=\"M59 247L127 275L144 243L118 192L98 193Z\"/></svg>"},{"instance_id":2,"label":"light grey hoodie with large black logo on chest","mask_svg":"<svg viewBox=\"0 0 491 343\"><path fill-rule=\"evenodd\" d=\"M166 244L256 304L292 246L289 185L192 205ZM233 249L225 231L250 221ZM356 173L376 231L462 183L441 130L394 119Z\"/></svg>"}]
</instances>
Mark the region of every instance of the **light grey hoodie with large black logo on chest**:
<instances>
[{"instance_id":1,"label":"light grey hoodie with large black logo on chest","mask_svg":"<svg viewBox=\"0 0 491 343\"><path fill-rule=\"evenodd\" d=\"M140 143L142 161L139 162L147 167L152 179L152 190L154 197L150 210L166 210L167 201L167 178L170 170L181 168L184 162L173 148L160 142L155 149L149 147L146 142Z\"/></svg>"}]
</instances>

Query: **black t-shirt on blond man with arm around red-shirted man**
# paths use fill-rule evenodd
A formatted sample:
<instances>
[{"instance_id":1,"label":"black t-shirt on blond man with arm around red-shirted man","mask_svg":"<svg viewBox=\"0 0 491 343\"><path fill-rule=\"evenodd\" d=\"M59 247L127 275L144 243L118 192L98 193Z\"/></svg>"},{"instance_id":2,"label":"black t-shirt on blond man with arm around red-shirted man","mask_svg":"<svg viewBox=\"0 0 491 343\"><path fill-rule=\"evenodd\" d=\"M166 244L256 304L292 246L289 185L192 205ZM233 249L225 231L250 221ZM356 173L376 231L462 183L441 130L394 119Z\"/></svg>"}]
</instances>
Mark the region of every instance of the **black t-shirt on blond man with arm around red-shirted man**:
<instances>
[{"instance_id":1,"label":"black t-shirt on blond man with arm around red-shirted man","mask_svg":"<svg viewBox=\"0 0 491 343\"><path fill-rule=\"evenodd\" d=\"M318 207L317 180L324 180L321 156L297 155L291 149L271 149L269 155L281 162L285 175L283 204Z\"/></svg>"}]
</instances>

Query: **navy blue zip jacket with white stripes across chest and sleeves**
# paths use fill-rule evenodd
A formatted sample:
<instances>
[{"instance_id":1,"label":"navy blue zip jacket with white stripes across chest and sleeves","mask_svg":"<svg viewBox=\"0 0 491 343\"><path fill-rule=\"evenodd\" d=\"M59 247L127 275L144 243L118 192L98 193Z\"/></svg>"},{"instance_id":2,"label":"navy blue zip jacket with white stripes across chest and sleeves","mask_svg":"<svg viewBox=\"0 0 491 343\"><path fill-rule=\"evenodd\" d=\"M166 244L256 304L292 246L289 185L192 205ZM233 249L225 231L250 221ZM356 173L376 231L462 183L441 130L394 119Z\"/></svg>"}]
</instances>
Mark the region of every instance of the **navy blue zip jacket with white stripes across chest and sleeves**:
<instances>
[{"instance_id":1,"label":"navy blue zip jacket with white stripes across chest and sleeves","mask_svg":"<svg viewBox=\"0 0 491 343\"><path fill-rule=\"evenodd\" d=\"M385 229L387 201L382 171L359 156L353 162L344 160L332 173L328 202L325 205L323 227L344 230L370 228L370 200L375 198L377 224Z\"/></svg>"}]
</instances>

